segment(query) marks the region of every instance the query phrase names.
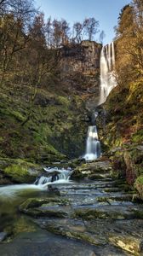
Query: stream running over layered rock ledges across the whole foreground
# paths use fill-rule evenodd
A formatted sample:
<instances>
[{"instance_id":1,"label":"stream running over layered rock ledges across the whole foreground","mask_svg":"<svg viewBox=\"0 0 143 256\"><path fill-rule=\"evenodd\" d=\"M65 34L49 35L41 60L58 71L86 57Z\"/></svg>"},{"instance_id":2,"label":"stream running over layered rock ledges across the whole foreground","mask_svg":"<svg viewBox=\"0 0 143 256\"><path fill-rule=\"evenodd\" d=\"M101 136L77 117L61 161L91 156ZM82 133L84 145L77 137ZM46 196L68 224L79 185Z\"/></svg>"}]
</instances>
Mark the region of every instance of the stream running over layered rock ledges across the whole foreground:
<instances>
[{"instance_id":1,"label":"stream running over layered rock ledges across the whole foreground","mask_svg":"<svg viewBox=\"0 0 143 256\"><path fill-rule=\"evenodd\" d=\"M50 184L0 188L1 256L143 255L143 207L122 180L103 168Z\"/></svg>"}]
</instances>

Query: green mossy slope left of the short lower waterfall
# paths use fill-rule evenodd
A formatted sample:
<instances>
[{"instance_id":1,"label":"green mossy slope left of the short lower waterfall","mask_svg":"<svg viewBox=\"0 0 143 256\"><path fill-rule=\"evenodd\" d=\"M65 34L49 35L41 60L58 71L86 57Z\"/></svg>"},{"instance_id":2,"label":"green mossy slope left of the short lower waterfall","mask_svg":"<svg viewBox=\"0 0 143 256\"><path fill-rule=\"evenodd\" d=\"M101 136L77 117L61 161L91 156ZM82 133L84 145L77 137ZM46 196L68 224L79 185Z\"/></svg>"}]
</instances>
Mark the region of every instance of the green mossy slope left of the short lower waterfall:
<instances>
[{"instance_id":1,"label":"green mossy slope left of the short lower waterfall","mask_svg":"<svg viewBox=\"0 0 143 256\"><path fill-rule=\"evenodd\" d=\"M88 124L79 96L39 89L31 118L25 125L29 109L28 87L14 95L0 95L0 156L51 162L83 154ZM70 96L70 98L69 98Z\"/></svg>"}]
</instances>

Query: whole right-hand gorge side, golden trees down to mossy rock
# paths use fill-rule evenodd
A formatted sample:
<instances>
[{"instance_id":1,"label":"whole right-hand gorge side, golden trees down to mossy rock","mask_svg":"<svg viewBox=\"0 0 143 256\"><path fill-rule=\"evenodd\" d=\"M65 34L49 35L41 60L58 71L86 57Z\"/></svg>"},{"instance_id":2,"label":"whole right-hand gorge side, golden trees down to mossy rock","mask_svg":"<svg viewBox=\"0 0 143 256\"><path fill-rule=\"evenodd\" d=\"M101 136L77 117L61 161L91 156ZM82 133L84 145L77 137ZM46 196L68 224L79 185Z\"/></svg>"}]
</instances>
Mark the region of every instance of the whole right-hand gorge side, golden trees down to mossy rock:
<instances>
[{"instance_id":1,"label":"whole right-hand gorge side, golden trees down to mossy rock","mask_svg":"<svg viewBox=\"0 0 143 256\"><path fill-rule=\"evenodd\" d=\"M117 87L107 98L103 143L114 168L138 190L143 173L143 3L134 0L118 17L116 27ZM122 173L121 173L122 172ZM140 196L142 197L142 192Z\"/></svg>"}]
</instances>

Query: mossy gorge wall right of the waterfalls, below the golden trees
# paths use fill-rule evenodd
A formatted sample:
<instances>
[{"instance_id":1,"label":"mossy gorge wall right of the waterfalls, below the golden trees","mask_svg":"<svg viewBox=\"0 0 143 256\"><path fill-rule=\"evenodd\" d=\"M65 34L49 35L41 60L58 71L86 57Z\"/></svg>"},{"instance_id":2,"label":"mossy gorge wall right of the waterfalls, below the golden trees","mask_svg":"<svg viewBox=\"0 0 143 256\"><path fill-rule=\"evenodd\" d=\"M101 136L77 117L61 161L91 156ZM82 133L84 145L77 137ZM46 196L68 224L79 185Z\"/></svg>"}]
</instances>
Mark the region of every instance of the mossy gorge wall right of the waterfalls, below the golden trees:
<instances>
[{"instance_id":1,"label":"mossy gorge wall right of the waterfalls, below the golden trees","mask_svg":"<svg viewBox=\"0 0 143 256\"><path fill-rule=\"evenodd\" d=\"M115 175L125 178L143 199L143 91L142 79L117 86L98 108L97 119L104 154Z\"/></svg>"}]
</instances>

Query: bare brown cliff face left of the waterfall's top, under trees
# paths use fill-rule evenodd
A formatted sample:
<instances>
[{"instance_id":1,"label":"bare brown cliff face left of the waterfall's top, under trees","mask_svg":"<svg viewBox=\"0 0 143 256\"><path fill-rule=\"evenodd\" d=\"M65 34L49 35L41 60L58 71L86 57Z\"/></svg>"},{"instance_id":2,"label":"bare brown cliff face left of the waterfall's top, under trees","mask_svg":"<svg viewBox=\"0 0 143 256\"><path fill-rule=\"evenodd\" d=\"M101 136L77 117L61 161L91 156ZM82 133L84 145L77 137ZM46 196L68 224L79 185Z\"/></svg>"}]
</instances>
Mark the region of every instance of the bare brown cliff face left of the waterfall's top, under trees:
<instances>
[{"instance_id":1,"label":"bare brown cliff face left of the waterfall's top, under trees","mask_svg":"<svg viewBox=\"0 0 143 256\"><path fill-rule=\"evenodd\" d=\"M62 49L61 72L83 73L95 75L100 68L101 44L94 41L83 41L81 44L71 44Z\"/></svg>"}]
</instances>

